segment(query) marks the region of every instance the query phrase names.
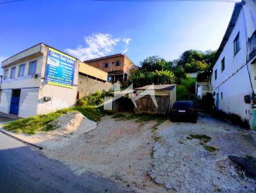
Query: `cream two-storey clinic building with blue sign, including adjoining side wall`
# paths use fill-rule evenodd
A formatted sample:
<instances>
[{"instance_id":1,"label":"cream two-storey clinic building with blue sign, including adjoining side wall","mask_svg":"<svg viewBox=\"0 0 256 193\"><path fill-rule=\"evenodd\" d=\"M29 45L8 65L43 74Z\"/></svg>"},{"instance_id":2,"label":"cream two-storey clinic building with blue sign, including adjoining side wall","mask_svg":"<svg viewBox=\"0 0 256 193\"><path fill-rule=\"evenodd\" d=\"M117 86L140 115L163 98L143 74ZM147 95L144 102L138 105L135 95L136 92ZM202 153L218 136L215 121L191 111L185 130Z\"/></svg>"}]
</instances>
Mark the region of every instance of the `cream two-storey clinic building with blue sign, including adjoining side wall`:
<instances>
[{"instance_id":1,"label":"cream two-storey clinic building with blue sign, including adjoining side wall","mask_svg":"<svg viewBox=\"0 0 256 193\"><path fill-rule=\"evenodd\" d=\"M79 95L112 85L106 82L108 73L44 43L4 60L1 67L0 111L22 118L71 107Z\"/></svg>"}]
</instances>

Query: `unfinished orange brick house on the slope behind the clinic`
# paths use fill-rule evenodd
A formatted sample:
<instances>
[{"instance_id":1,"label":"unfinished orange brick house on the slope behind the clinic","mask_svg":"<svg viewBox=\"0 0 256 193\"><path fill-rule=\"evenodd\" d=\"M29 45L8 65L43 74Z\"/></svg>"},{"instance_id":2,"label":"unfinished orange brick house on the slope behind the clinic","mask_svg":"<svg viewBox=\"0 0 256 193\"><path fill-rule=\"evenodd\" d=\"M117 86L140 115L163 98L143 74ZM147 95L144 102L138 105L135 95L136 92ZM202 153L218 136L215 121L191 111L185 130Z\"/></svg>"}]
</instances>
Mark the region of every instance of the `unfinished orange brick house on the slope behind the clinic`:
<instances>
[{"instance_id":1,"label":"unfinished orange brick house on the slope behind the clinic","mask_svg":"<svg viewBox=\"0 0 256 193\"><path fill-rule=\"evenodd\" d=\"M89 59L84 61L84 63L108 72L109 82L114 83L120 81L123 85L128 84L131 70L138 69L138 66L134 65L131 59L125 54L115 54L102 58Z\"/></svg>"}]
</instances>

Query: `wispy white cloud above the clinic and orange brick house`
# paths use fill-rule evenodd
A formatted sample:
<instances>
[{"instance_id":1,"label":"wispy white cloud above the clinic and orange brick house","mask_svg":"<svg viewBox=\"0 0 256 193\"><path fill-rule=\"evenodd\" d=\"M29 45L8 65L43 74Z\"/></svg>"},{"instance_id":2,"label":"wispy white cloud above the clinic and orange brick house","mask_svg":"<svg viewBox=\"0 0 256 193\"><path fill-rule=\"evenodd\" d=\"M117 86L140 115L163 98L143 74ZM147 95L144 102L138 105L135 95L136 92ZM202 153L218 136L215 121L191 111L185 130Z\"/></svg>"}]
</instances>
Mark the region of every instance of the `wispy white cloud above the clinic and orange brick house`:
<instances>
[{"instance_id":1,"label":"wispy white cloud above the clinic and orange brick house","mask_svg":"<svg viewBox=\"0 0 256 193\"><path fill-rule=\"evenodd\" d=\"M65 52L83 61L107 56L114 52L125 53L130 42L131 38L115 38L108 33L93 33L90 36L84 37L85 46L79 45L76 49L68 48L65 49Z\"/></svg>"}]
</instances>

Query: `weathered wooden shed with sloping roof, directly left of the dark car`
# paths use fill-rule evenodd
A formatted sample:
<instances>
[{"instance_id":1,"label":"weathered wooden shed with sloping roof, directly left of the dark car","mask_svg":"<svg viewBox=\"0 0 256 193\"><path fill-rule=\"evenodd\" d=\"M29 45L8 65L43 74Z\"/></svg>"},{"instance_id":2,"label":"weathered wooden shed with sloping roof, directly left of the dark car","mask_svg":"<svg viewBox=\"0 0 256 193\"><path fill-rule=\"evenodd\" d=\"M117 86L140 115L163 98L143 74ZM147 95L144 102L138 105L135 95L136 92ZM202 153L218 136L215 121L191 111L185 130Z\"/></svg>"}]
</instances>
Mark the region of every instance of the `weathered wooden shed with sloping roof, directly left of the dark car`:
<instances>
[{"instance_id":1,"label":"weathered wooden shed with sloping roof, directly left of the dark car","mask_svg":"<svg viewBox=\"0 0 256 193\"><path fill-rule=\"evenodd\" d=\"M145 91L150 91L150 95L156 98L157 106L152 100L152 96L145 95ZM176 84L147 85L136 88L136 114L169 114L173 103L176 101Z\"/></svg>"}]
</instances>

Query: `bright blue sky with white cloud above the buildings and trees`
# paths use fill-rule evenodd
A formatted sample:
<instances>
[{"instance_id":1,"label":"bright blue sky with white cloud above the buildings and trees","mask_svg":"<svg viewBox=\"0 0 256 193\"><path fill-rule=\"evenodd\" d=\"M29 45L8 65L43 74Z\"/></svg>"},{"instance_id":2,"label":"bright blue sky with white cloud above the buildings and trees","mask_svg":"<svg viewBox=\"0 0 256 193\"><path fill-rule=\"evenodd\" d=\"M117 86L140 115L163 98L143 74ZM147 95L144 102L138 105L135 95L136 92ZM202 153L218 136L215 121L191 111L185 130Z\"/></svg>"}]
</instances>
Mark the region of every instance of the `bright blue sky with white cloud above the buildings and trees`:
<instances>
[{"instance_id":1,"label":"bright blue sky with white cloud above the buildings and trees","mask_svg":"<svg viewBox=\"0 0 256 193\"><path fill-rule=\"evenodd\" d=\"M0 61L43 42L86 60L125 53L139 65L185 50L216 50L232 15L227 2L0 0Z\"/></svg>"}]
</instances>

